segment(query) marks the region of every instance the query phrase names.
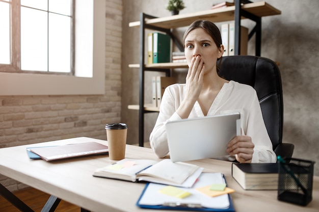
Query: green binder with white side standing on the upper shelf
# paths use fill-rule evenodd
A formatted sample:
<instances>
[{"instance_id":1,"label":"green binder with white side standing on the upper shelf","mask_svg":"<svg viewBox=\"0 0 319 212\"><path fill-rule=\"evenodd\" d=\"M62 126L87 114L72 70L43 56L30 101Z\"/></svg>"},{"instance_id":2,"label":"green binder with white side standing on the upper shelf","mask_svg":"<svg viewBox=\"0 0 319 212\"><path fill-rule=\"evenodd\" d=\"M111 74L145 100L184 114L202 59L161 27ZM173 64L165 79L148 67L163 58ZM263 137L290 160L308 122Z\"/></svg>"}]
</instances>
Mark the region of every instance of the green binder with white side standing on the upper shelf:
<instances>
[{"instance_id":1,"label":"green binder with white side standing on the upper shelf","mask_svg":"<svg viewBox=\"0 0 319 212\"><path fill-rule=\"evenodd\" d=\"M171 38L162 33L153 33L153 63L171 61Z\"/></svg>"}]
</instances>

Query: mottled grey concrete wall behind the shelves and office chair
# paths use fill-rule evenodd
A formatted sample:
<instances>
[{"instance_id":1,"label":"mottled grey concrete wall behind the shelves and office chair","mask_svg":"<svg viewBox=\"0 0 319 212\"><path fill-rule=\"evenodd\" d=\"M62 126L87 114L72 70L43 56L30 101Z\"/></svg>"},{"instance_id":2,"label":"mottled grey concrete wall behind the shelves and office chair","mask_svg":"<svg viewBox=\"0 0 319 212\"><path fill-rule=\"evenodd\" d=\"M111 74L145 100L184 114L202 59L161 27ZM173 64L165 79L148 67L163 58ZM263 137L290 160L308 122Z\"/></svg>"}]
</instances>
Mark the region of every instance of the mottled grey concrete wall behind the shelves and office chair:
<instances>
[{"instance_id":1,"label":"mottled grey concrete wall behind the shelves and office chair","mask_svg":"<svg viewBox=\"0 0 319 212\"><path fill-rule=\"evenodd\" d=\"M127 105L138 104L138 69L129 69L128 64L139 63L139 28L128 27L128 23L139 20L141 12L157 17L169 16L165 9L167 0L123 0L123 57L122 57L122 120L129 126L128 142L138 143L138 111L128 110ZM184 0L185 8L180 12L190 13L210 9L222 1ZM257 2L257 1L253 1ZM281 15L262 18L261 56L280 64L284 94L284 138L283 142L295 144L295 158L315 161L315 174L319 175L319 94L317 92L319 51L319 2L297 0L268 0ZM220 26L221 23L217 23ZM252 29L254 23L244 20L242 25ZM182 37L184 28L174 31ZM254 54L254 38L249 42L249 54ZM174 75L183 81L187 70L175 70ZM146 82L152 75L146 74ZM145 102L150 103L150 86L145 84ZM145 114L145 142L155 124L157 114Z\"/></svg>"}]
</instances>

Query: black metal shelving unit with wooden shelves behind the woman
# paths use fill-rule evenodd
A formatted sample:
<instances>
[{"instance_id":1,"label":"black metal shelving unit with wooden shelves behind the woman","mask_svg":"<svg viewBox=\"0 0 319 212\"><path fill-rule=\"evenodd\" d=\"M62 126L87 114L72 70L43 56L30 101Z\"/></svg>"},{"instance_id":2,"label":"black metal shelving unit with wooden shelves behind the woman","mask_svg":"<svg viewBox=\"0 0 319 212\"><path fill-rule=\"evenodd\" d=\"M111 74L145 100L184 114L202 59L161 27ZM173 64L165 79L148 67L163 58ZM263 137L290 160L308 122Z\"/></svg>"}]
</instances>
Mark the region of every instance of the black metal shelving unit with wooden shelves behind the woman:
<instances>
[{"instance_id":1,"label":"black metal shelving unit with wooden shelves behind the woman","mask_svg":"<svg viewBox=\"0 0 319 212\"><path fill-rule=\"evenodd\" d=\"M183 45L171 33L172 28L188 26L198 19L209 20L212 22L235 21L235 55L240 53L241 40L241 19L248 18L255 21L256 25L249 33L249 39L256 35L255 55L260 56L261 46L261 17L279 15L281 11L267 4L266 2L252 3L248 0L234 0L235 5L218 8L214 10L199 11L188 14L180 14L168 17L154 17L141 13L140 21L129 23L129 27L140 27L140 62L131 64L129 68L139 69L139 105L129 105L128 109L139 110L139 145L144 146L144 114L147 112L158 112L158 108L144 104L144 76L145 71L165 72L170 76L170 70L174 68L188 68L187 63L159 63L145 64L145 29L164 32L171 36L175 45L183 51Z\"/></svg>"}]
</instances>

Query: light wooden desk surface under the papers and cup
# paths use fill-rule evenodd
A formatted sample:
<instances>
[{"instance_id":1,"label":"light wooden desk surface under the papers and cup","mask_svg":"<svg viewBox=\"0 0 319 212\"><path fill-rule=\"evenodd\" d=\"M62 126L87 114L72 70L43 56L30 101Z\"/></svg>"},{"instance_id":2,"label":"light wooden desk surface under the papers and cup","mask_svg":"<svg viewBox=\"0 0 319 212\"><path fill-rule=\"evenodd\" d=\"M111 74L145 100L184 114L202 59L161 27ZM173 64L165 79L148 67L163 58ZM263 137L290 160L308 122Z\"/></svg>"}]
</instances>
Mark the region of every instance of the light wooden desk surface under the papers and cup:
<instances>
[{"instance_id":1,"label":"light wooden desk surface under the papers and cup","mask_svg":"<svg viewBox=\"0 0 319 212\"><path fill-rule=\"evenodd\" d=\"M0 149L0 174L13 178L50 195L95 212L104 211L152 211L136 206L145 184L93 177L96 168L114 163L108 156L87 156L55 162L31 160L26 154L28 146L50 146L95 141L92 138L72 138L39 144ZM127 145L126 158L156 158L150 148ZM235 190L231 194L236 212L240 211L318 211L319 177L314 176L312 201L306 206L294 205L277 200L277 191L245 191L231 176L231 163L214 159L191 161L204 167L204 172L225 174L227 184Z\"/></svg>"}]
</instances>

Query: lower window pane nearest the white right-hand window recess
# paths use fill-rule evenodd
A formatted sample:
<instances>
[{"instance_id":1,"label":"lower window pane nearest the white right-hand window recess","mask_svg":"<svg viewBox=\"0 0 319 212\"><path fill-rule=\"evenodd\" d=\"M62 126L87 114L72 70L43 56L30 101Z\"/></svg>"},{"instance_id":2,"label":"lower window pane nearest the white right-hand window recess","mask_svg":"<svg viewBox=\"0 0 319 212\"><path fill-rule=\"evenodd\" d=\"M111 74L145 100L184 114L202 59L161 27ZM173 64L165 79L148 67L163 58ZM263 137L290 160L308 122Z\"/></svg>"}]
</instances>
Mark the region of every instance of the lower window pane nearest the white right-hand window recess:
<instances>
[{"instance_id":1,"label":"lower window pane nearest the white right-hand window recess","mask_svg":"<svg viewBox=\"0 0 319 212\"><path fill-rule=\"evenodd\" d=\"M71 18L49 14L49 71L70 72Z\"/></svg>"}]
</instances>

